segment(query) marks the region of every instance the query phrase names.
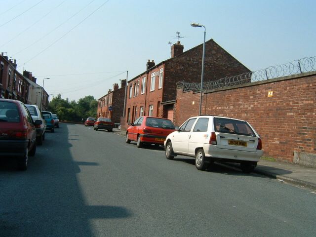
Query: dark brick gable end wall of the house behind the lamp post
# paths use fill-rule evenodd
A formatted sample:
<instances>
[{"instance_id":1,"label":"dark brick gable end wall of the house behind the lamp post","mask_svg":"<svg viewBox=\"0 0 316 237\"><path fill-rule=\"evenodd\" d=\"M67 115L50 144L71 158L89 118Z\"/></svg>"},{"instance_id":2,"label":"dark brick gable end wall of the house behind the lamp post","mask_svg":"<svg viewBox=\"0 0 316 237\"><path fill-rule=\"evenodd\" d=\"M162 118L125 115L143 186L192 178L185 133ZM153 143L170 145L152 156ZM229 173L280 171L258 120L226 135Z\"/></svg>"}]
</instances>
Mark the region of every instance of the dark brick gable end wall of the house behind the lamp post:
<instances>
[{"instance_id":1,"label":"dark brick gable end wall of the house behind the lamp post","mask_svg":"<svg viewBox=\"0 0 316 237\"><path fill-rule=\"evenodd\" d=\"M203 44L165 61L163 101L175 100L176 83L200 82ZM205 42L204 81L250 72L214 40Z\"/></svg>"}]
</instances>

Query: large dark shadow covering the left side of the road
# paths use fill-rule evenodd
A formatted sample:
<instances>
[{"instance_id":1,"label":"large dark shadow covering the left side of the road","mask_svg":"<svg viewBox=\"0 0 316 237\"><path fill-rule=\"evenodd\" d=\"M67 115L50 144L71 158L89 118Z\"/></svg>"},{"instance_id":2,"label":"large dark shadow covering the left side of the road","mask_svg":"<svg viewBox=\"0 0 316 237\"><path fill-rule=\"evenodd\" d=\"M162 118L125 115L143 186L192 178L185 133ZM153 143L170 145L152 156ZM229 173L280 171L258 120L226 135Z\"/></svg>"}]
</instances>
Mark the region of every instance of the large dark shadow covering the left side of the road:
<instances>
[{"instance_id":1,"label":"large dark shadow covering the left side of the road","mask_svg":"<svg viewBox=\"0 0 316 237\"><path fill-rule=\"evenodd\" d=\"M132 215L123 206L87 204L77 177L79 166L98 163L74 161L68 142L76 136L72 126L61 123L55 133L47 133L27 171L17 171L12 159L1 160L0 236L93 237L92 219Z\"/></svg>"}]
</instances>

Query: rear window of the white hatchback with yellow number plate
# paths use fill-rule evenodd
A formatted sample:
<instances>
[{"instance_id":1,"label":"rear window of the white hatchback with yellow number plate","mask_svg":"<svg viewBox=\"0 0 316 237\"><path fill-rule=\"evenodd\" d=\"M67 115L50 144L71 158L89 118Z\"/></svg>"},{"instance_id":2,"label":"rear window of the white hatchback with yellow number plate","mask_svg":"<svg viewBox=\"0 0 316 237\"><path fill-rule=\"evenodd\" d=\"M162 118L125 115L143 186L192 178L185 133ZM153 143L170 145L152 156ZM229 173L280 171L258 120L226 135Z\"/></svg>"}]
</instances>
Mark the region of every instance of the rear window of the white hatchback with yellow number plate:
<instances>
[{"instance_id":1,"label":"rear window of the white hatchback with yellow number plate","mask_svg":"<svg viewBox=\"0 0 316 237\"><path fill-rule=\"evenodd\" d=\"M214 118L215 132L233 133L255 137L256 134L246 121L230 118Z\"/></svg>"}]
</instances>

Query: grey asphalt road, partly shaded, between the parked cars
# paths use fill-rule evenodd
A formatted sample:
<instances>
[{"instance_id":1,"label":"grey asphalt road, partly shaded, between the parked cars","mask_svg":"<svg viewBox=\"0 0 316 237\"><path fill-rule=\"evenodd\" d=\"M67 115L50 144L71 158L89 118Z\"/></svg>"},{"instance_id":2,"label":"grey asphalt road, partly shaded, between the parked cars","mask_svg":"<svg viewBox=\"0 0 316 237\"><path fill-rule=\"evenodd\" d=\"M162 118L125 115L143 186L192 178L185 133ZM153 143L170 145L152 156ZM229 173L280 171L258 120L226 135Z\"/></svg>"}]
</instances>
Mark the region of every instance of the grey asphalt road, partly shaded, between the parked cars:
<instances>
[{"instance_id":1,"label":"grey asphalt road, partly shaded, between the parked cars","mask_svg":"<svg viewBox=\"0 0 316 237\"><path fill-rule=\"evenodd\" d=\"M47 131L27 171L0 160L0 237L316 236L316 194L92 127Z\"/></svg>"}]
</instances>

